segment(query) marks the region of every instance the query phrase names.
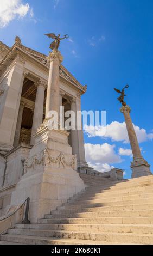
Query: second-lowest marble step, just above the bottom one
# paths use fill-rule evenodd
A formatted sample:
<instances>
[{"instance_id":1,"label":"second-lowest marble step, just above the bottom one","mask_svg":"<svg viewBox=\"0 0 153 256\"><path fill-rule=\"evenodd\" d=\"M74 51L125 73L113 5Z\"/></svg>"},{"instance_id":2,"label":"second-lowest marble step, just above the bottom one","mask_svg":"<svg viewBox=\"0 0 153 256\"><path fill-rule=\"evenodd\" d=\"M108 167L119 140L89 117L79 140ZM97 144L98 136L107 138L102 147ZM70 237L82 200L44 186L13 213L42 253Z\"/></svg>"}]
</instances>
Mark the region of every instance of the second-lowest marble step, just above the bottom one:
<instances>
[{"instance_id":1,"label":"second-lowest marble step, just above the bottom one","mask_svg":"<svg viewBox=\"0 0 153 256\"><path fill-rule=\"evenodd\" d=\"M50 232L52 231L88 231L88 232L117 232L117 233L138 233L138 234L153 234L153 225L152 224L50 224L46 225L47 229L25 229L25 228L14 228L9 229L8 234L23 234L23 232L31 231L33 235L41 236L41 232ZM23 231L24 230L24 231Z\"/></svg>"}]
</instances>

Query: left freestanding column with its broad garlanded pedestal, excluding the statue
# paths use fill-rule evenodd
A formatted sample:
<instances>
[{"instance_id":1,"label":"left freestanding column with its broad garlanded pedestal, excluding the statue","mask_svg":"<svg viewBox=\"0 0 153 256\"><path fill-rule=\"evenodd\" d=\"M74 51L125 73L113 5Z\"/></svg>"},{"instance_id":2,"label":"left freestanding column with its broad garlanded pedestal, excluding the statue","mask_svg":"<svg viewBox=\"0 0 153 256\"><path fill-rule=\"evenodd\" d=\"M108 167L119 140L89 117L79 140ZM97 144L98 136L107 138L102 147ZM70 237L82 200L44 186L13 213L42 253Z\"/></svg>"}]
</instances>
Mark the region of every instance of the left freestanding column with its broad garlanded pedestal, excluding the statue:
<instances>
[{"instance_id":1,"label":"left freestanding column with its broad garlanded pedestal, excluding the statue","mask_svg":"<svg viewBox=\"0 0 153 256\"><path fill-rule=\"evenodd\" d=\"M50 111L59 114L60 52L49 54L50 71L47 88L46 119L34 135L35 144L24 162L24 175L12 193L11 205L30 198L29 220L37 222L67 202L85 185L76 172L76 155L68 144L69 132L53 130L49 124Z\"/></svg>"}]
</instances>

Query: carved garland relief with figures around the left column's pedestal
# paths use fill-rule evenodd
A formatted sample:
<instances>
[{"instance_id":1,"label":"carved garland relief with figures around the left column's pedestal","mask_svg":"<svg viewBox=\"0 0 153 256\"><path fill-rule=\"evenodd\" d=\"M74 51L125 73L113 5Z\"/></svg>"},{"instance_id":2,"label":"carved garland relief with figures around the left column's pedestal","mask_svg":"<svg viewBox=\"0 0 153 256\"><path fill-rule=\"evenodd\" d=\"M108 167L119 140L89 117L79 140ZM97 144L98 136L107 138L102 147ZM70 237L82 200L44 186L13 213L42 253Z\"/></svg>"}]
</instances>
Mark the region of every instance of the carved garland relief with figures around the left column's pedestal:
<instances>
[{"instance_id":1,"label":"carved garland relief with figures around the left column's pedestal","mask_svg":"<svg viewBox=\"0 0 153 256\"><path fill-rule=\"evenodd\" d=\"M40 156L41 155L41 156ZM65 168L66 166L72 167L73 170L76 170L76 155L72 156L71 162L66 160L65 154L61 153L57 157L52 157L49 154L48 149L45 149L43 153L30 157L30 159L25 159L24 161L24 174L27 173L27 169L35 169L36 164L49 166L51 163L59 163L60 168Z\"/></svg>"}]
</instances>

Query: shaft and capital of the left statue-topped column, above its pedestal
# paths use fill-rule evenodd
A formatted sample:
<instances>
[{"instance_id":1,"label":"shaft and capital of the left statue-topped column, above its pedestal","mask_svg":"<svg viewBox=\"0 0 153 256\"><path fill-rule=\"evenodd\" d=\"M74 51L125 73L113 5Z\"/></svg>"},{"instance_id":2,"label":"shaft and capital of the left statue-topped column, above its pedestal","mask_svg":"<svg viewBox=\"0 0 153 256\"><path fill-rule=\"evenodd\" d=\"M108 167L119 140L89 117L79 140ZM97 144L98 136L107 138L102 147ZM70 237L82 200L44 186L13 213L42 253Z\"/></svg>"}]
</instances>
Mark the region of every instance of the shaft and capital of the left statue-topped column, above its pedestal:
<instances>
[{"instance_id":1,"label":"shaft and capital of the left statue-topped column, above its pedestal","mask_svg":"<svg viewBox=\"0 0 153 256\"><path fill-rule=\"evenodd\" d=\"M46 99L46 119L50 118L49 111L56 111L59 113L59 95L60 95L60 74L59 68L63 60L59 51L53 50L48 56L48 62L50 62L48 87L47 87L47 99Z\"/></svg>"}]
</instances>

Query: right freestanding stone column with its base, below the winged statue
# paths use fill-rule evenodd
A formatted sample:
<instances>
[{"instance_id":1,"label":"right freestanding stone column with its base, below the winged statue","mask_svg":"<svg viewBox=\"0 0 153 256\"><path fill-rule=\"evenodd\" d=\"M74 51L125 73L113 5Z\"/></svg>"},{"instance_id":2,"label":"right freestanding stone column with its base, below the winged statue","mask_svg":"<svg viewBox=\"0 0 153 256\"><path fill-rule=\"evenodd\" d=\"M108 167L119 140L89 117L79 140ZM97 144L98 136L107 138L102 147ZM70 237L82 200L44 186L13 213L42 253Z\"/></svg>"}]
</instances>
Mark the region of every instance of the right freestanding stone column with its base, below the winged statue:
<instances>
[{"instance_id":1,"label":"right freestanding stone column with its base, below the winged statue","mask_svg":"<svg viewBox=\"0 0 153 256\"><path fill-rule=\"evenodd\" d=\"M131 162L132 178L151 175L152 173L150 171L150 165L143 159L141 150L139 148L136 132L130 117L131 109L129 106L125 105L122 106L120 112L124 114L127 133L129 136L131 150L133 153L133 162Z\"/></svg>"}]
</instances>

